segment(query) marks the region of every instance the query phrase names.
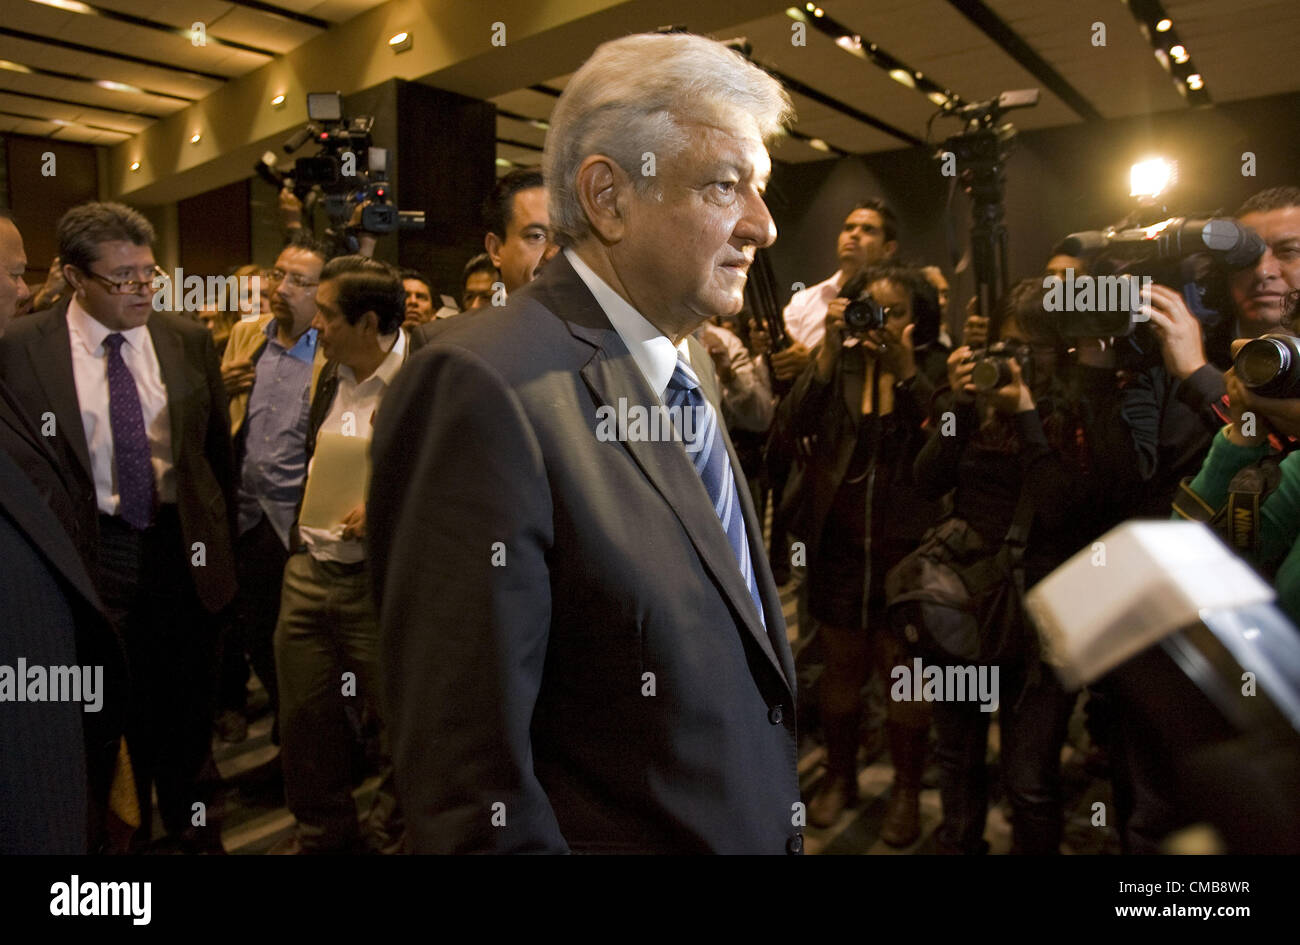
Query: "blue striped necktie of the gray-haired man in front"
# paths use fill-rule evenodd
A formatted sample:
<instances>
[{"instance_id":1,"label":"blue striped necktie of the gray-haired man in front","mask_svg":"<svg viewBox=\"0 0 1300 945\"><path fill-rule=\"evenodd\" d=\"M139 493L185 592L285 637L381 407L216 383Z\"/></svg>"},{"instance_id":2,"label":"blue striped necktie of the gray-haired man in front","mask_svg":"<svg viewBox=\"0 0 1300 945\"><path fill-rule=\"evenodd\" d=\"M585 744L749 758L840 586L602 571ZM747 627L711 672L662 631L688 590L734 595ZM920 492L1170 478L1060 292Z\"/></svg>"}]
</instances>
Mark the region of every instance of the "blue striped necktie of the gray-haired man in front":
<instances>
[{"instance_id":1,"label":"blue striped necktie of the gray-haired man in front","mask_svg":"<svg viewBox=\"0 0 1300 945\"><path fill-rule=\"evenodd\" d=\"M763 615L763 601L758 595L758 581L754 578L754 562L749 556L749 541L745 534L745 515L741 511L740 495L736 493L736 477L731 468L731 459L727 455L727 445L723 442L723 432L718 424L718 413L708 399L699 390L699 378L692 370L685 356L679 354L677 367L668 381L664 391L664 406L670 409L681 408L682 424L679 428L682 445L686 447L686 456L699 473L699 478L708 490L708 498L714 503L714 512L722 523L727 541L736 555L740 573L749 588L749 595L754 598L758 608L758 619L767 627ZM686 417L692 421L686 421ZM701 420L697 420L702 417Z\"/></svg>"}]
</instances>

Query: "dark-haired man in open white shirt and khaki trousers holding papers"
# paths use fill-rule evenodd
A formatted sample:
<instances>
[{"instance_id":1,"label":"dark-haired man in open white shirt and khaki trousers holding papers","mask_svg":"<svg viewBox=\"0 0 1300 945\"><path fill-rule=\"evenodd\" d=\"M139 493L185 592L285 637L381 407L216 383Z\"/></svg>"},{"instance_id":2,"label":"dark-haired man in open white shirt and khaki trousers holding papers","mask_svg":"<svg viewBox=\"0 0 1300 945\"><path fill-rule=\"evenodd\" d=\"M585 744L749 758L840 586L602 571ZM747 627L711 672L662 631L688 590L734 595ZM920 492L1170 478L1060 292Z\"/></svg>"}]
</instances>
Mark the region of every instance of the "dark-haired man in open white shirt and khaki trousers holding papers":
<instances>
[{"instance_id":1,"label":"dark-haired man in open white shirt and khaki trousers holding papers","mask_svg":"<svg viewBox=\"0 0 1300 945\"><path fill-rule=\"evenodd\" d=\"M369 441L380 402L406 360L404 308L402 278L385 263L342 256L321 270L312 326L329 363L311 406L307 495L329 478L364 481L364 468L322 465L317 445L330 435ZM378 623L367 567L365 506L359 495L337 523L299 523L296 530L276 627L276 668L285 798L298 828L277 851L342 853L354 848L359 833L346 710L356 719L367 712L374 718L378 710ZM376 851L395 853L400 818L391 766L382 754L367 842Z\"/></svg>"}]
</instances>

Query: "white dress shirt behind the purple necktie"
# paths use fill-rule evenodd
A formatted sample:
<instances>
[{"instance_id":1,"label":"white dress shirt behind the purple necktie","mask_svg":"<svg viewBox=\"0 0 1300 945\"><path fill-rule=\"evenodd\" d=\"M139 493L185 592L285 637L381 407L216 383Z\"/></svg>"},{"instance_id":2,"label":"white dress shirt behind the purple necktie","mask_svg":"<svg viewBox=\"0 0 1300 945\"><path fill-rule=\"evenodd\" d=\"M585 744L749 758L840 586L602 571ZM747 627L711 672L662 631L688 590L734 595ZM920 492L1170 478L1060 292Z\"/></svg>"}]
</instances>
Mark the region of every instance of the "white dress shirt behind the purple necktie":
<instances>
[{"instance_id":1,"label":"white dress shirt behind the purple necktie","mask_svg":"<svg viewBox=\"0 0 1300 945\"><path fill-rule=\"evenodd\" d=\"M77 406L81 408L86 447L90 450L91 473L95 477L95 502L105 515L117 515L121 498L117 493L117 465L113 461L113 426L108 406L108 352L104 339L113 330L77 304L68 304L68 333L72 335L73 380L77 383ZM148 325L122 335L122 361L135 378L135 391L144 415L144 433L150 438L153 482L159 502L176 502L176 471L172 455L172 416L166 402L166 385L159 365Z\"/></svg>"}]
</instances>

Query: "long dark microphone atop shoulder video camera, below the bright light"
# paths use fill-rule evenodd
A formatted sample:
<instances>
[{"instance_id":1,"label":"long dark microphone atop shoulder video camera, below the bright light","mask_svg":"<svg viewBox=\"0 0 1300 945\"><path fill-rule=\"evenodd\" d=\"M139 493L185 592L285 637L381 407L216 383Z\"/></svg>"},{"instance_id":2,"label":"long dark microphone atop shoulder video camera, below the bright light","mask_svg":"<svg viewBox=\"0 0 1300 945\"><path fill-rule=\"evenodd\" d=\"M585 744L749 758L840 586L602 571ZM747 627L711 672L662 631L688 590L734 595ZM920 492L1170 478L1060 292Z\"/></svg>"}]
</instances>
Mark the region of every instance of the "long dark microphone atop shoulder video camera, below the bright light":
<instances>
[{"instance_id":1,"label":"long dark microphone atop shoulder video camera, below the bright light","mask_svg":"<svg viewBox=\"0 0 1300 945\"><path fill-rule=\"evenodd\" d=\"M1071 233L1061 243L1070 256L1082 256L1112 246L1136 250L1143 257L1180 259L1193 252L1210 252L1230 269L1254 265L1265 243L1254 230L1235 220L1210 217L1187 220L1170 217L1154 226L1131 230L1086 230Z\"/></svg>"}]
</instances>

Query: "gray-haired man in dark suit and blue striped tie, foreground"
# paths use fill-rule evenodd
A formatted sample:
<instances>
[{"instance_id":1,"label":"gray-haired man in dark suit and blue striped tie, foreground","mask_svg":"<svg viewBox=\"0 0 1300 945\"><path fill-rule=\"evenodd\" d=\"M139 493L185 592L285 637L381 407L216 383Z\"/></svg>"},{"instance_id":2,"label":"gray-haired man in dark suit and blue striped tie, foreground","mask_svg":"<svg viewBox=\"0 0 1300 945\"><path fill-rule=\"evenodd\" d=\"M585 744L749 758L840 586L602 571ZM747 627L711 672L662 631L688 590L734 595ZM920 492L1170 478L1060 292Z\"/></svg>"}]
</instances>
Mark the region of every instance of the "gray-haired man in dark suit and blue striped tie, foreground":
<instances>
[{"instance_id":1,"label":"gray-haired man in dark suit and blue striped tie, foreground","mask_svg":"<svg viewBox=\"0 0 1300 945\"><path fill-rule=\"evenodd\" d=\"M564 252L389 391L368 523L408 849L802 849L785 623L690 339L775 238L788 114L711 40L602 45L546 143Z\"/></svg>"}]
</instances>

